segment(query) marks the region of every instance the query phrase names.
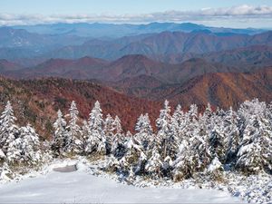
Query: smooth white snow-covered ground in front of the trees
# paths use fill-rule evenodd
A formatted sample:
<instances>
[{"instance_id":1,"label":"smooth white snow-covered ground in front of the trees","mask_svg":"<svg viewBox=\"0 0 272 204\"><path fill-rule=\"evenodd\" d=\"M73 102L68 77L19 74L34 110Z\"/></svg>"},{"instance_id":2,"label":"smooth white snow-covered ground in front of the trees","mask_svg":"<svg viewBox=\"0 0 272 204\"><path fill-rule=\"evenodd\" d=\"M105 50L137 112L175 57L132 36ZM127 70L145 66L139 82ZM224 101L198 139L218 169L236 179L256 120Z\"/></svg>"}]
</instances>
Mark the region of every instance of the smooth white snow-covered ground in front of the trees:
<instances>
[{"instance_id":1,"label":"smooth white snow-covered ground in front of the trees","mask_svg":"<svg viewBox=\"0 0 272 204\"><path fill-rule=\"evenodd\" d=\"M34 178L1 184L0 203L245 203L216 189L134 187L94 176L81 162L73 172L53 171L73 162L58 162Z\"/></svg>"}]
</instances>

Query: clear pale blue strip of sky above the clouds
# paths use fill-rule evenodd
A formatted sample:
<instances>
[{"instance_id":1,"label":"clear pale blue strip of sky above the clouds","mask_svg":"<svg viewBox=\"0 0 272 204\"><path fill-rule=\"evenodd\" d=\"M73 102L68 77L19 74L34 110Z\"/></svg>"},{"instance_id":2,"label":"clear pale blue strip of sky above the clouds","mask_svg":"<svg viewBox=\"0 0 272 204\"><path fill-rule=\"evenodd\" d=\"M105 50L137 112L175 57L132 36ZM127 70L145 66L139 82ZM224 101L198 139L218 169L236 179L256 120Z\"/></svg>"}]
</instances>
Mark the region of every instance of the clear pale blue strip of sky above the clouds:
<instances>
[{"instance_id":1,"label":"clear pale blue strip of sky above the clouds","mask_svg":"<svg viewBox=\"0 0 272 204\"><path fill-rule=\"evenodd\" d=\"M1 13L153 13L233 5L271 5L271 0L1 0Z\"/></svg>"}]
</instances>

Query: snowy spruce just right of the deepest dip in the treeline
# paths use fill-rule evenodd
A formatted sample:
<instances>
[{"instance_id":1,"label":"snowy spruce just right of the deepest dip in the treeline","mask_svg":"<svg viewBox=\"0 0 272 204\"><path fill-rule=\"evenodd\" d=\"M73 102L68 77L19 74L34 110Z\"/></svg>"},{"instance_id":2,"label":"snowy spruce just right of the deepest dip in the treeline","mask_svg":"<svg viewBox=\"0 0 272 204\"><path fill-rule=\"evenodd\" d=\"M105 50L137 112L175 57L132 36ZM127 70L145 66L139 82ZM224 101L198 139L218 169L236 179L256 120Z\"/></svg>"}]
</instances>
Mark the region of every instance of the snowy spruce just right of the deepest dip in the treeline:
<instances>
[{"instance_id":1,"label":"snowy spruce just right of the deepest dip in the treeline","mask_svg":"<svg viewBox=\"0 0 272 204\"><path fill-rule=\"evenodd\" d=\"M141 114L136 122L135 131L137 131L135 134L136 140L141 142L143 149L146 151L148 149L149 142L151 141L151 135L153 133L148 113L145 115Z\"/></svg>"}]
</instances>

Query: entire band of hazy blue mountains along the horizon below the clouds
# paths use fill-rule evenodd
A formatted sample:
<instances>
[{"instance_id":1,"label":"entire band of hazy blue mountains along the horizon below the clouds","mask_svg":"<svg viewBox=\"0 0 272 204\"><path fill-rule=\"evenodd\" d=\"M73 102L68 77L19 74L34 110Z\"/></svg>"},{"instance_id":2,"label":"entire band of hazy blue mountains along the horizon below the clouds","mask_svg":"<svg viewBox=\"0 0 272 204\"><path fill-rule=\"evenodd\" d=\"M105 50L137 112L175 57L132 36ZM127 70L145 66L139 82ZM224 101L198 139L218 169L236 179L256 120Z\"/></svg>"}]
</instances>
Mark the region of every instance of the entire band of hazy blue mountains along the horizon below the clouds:
<instances>
[{"instance_id":1,"label":"entire band of hazy blue mountains along the horizon below the clouds","mask_svg":"<svg viewBox=\"0 0 272 204\"><path fill-rule=\"evenodd\" d=\"M82 24L84 27L84 24ZM102 24L97 27L110 29L120 24ZM41 25L45 26L45 25ZM49 26L49 25L46 25ZM63 25L65 27L65 25ZM76 26L69 24L69 26ZM88 26L91 26L88 24ZM136 25L128 25L129 28ZM54 26L53 26L54 27ZM23 27L22 27L23 28ZM167 60L175 63L189 56L198 57L197 54L222 52L253 45L271 45L272 32L227 32L223 28L207 29L199 24L142 24L137 25L141 32L121 35L121 37L92 37L78 36L70 32L63 34L37 34L31 33L21 27L0 27L0 59L50 59L65 58L78 59L84 56L116 60L123 55L144 54L154 59ZM159 29L160 28L160 29ZM205 29L204 29L205 28ZM227 29L228 30L228 29ZM34 30L30 30L34 32ZM253 32L255 31L255 32ZM122 30L116 31L121 32ZM219 33L217 33L219 32ZM106 34L110 35L107 30ZM179 56L179 58L174 57ZM181 56L181 57L180 57Z\"/></svg>"}]
</instances>

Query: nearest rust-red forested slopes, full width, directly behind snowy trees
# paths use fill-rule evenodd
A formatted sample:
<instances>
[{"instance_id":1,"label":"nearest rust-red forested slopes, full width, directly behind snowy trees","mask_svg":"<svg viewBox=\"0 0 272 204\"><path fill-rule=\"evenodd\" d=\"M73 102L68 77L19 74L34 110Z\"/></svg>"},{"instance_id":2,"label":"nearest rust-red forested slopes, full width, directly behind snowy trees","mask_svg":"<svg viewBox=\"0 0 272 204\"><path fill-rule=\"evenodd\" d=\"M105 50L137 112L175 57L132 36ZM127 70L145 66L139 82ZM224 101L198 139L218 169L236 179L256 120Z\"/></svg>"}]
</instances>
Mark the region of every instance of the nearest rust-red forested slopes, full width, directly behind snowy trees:
<instances>
[{"instance_id":1,"label":"nearest rust-red forested slopes, full width, directly behind snowy trees","mask_svg":"<svg viewBox=\"0 0 272 204\"><path fill-rule=\"evenodd\" d=\"M112 87L112 88L111 88ZM10 100L18 121L34 124L38 132L50 137L56 112L68 112L72 101L77 103L80 117L87 120L95 101L102 104L104 114L121 117L125 131L133 131L139 112L148 112L155 128L165 99L175 107L181 104L188 110L191 103L203 111L208 102L212 107L235 109L240 102L259 98L272 101L272 68L255 73L206 73L184 84L165 84L152 76L139 75L114 85L96 81L77 81L60 78L35 80L0 79L0 102ZM1 107L3 108L3 107Z\"/></svg>"}]
</instances>

